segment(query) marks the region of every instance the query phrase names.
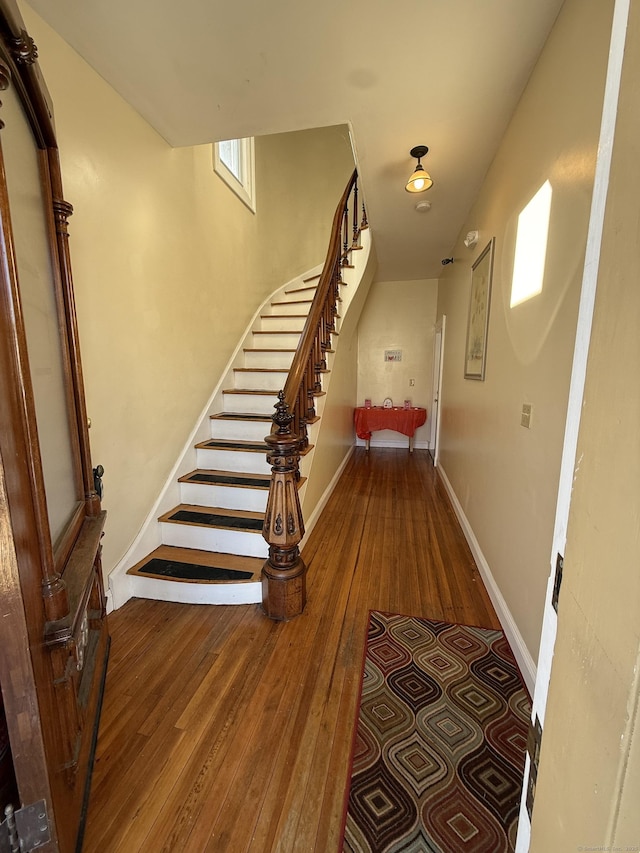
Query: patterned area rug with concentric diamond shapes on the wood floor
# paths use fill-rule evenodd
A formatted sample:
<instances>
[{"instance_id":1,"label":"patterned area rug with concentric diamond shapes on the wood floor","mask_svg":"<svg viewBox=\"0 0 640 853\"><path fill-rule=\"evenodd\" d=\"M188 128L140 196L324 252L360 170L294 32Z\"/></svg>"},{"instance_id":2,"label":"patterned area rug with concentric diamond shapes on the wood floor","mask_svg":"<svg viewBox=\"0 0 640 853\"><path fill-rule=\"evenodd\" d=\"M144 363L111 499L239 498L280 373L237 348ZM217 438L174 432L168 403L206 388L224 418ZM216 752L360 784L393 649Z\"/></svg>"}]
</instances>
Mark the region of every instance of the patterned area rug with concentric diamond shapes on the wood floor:
<instances>
[{"instance_id":1,"label":"patterned area rug with concentric diamond shapes on the wood floor","mask_svg":"<svg viewBox=\"0 0 640 853\"><path fill-rule=\"evenodd\" d=\"M530 701L501 631L373 611L344 853L507 853Z\"/></svg>"}]
</instances>

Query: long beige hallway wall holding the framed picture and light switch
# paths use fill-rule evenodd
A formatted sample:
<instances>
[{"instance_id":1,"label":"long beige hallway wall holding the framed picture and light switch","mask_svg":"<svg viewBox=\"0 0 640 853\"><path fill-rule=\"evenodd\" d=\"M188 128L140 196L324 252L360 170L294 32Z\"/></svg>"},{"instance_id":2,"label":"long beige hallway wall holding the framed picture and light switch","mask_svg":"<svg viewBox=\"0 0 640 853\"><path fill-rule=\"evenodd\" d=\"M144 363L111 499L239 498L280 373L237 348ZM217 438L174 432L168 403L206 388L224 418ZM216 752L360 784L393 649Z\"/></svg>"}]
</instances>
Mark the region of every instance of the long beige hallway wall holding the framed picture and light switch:
<instances>
[{"instance_id":1,"label":"long beige hallway wall holding the framed picture and light switch","mask_svg":"<svg viewBox=\"0 0 640 853\"><path fill-rule=\"evenodd\" d=\"M567 0L441 279L441 463L517 630L537 656L612 0ZM520 211L553 200L542 293L509 307ZM462 244L479 230L473 251ZM471 265L496 239L486 379L465 380ZM520 426L523 403L531 429Z\"/></svg>"}]
</instances>

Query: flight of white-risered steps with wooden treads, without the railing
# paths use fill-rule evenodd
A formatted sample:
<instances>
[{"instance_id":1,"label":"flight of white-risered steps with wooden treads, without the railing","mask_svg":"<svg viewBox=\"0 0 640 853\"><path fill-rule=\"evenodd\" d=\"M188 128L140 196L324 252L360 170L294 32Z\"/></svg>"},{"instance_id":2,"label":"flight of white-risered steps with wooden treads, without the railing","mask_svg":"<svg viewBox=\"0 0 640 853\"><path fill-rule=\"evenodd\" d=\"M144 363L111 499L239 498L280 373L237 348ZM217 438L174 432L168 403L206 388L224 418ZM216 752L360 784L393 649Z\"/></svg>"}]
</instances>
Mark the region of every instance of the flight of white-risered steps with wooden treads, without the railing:
<instances>
[{"instance_id":1,"label":"flight of white-risered steps with wooden treads, without the railing","mask_svg":"<svg viewBox=\"0 0 640 853\"><path fill-rule=\"evenodd\" d=\"M127 571L134 596L262 600L260 573L268 555L262 524L271 480L264 438L318 279L290 286L260 315L251 345L242 350L244 364L233 369L233 386L222 392L223 411L210 416L210 437L195 444L197 467L178 478L181 503L158 518L162 544ZM310 444L302 455L312 450Z\"/></svg>"}]
</instances>

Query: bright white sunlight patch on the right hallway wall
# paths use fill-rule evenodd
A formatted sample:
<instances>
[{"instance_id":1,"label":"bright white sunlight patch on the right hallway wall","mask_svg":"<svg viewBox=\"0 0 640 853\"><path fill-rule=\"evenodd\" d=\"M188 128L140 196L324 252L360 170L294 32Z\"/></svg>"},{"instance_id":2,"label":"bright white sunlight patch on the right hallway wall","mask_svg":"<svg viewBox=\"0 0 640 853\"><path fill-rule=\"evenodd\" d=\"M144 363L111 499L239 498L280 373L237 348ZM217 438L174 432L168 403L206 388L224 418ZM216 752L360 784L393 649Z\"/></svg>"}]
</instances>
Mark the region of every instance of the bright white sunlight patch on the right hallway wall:
<instances>
[{"instance_id":1,"label":"bright white sunlight patch on the right hallway wall","mask_svg":"<svg viewBox=\"0 0 640 853\"><path fill-rule=\"evenodd\" d=\"M545 181L518 217L511 308L542 292L552 194Z\"/></svg>"}]
</instances>

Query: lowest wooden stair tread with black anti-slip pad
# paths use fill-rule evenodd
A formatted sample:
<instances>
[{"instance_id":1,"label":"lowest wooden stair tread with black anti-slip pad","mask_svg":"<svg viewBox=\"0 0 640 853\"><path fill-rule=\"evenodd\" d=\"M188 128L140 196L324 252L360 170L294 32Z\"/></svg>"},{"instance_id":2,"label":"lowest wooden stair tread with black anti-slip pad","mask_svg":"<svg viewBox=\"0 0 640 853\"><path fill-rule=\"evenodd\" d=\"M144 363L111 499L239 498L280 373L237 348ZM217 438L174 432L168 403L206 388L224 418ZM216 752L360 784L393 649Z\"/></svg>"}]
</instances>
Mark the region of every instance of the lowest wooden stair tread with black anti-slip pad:
<instances>
[{"instance_id":1,"label":"lowest wooden stair tread with black anti-slip pad","mask_svg":"<svg viewBox=\"0 0 640 853\"><path fill-rule=\"evenodd\" d=\"M169 575L166 571L143 571L152 561L167 561L202 567L203 569L218 569L226 572L242 572L249 577L228 577L226 579L210 579L205 577L185 579ZM240 554L223 554L217 551L201 551L196 548L178 548L173 545L160 545L135 566L127 570L128 575L156 578L173 581L174 583L247 583L260 578L264 560L261 557L246 557ZM202 572L206 575L206 571Z\"/></svg>"}]
</instances>

